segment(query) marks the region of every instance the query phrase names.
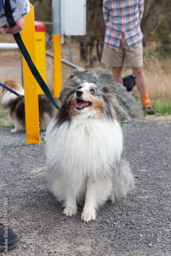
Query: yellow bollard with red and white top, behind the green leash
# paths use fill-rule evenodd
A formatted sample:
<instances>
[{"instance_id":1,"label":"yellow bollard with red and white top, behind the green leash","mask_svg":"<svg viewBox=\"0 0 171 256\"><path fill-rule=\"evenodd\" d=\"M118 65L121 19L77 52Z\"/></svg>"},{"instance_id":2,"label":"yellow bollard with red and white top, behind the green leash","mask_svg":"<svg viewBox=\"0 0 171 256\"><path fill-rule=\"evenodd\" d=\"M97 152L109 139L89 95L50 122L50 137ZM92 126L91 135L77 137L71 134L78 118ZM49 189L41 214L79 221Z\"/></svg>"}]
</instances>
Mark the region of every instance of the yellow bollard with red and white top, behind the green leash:
<instances>
[{"instance_id":1,"label":"yellow bollard with red and white top, behind the green leash","mask_svg":"<svg viewBox=\"0 0 171 256\"><path fill-rule=\"evenodd\" d=\"M42 22L34 22L35 25L35 50L36 50L36 68L41 77L46 82L46 39L45 24ZM38 94L44 94L37 83Z\"/></svg>"}]
</instances>

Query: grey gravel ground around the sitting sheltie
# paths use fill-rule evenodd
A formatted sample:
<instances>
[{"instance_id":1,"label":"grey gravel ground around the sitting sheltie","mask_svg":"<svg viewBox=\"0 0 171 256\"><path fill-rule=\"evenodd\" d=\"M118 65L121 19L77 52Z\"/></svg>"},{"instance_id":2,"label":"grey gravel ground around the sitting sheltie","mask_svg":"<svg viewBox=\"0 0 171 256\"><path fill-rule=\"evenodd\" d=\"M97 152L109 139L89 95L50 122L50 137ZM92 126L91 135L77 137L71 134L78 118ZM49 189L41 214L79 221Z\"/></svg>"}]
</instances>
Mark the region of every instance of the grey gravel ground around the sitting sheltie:
<instances>
[{"instance_id":1,"label":"grey gravel ground around the sitting sheltie","mask_svg":"<svg viewBox=\"0 0 171 256\"><path fill-rule=\"evenodd\" d=\"M124 158L133 169L135 193L106 202L97 219L66 217L45 178L44 145L26 146L25 133L0 130L1 205L8 198L8 223L20 236L10 255L171 255L171 121L123 126ZM0 253L0 255L4 255Z\"/></svg>"}]
</instances>

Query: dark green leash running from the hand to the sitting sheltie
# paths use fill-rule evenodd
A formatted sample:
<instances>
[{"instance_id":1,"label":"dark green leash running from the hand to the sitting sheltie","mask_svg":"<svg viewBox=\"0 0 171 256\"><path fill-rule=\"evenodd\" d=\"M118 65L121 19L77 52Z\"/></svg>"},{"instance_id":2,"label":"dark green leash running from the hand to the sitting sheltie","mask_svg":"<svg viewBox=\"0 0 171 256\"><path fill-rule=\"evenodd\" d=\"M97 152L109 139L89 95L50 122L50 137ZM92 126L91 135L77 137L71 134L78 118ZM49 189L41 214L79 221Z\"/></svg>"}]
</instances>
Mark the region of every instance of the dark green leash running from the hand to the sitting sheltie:
<instances>
[{"instance_id":1,"label":"dark green leash running from the hand to the sitting sheltie","mask_svg":"<svg viewBox=\"0 0 171 256\"><path fill-rule=\"evenodd\" d=\"M10 5L10 1L9 0L5 1L5 15L6 15L9 27L10 28L13 27L15 25L15 20L14 20L13 15L12 15L12 10L11 10L11 5ZM14 34L13 37L14 37L14 39L15 39L15 41L16 41L19 49L20 49L20 51L22 52L23 57L25 58L31 73L33 74L34 78L38 82L38 84L41 87L42 91L45 93L45 95L51 101L51 103L55 106L55 108L57 110L59 110L59 106L56 104L56 102L55 102L51 92L49 91L49 88L47 87L47 84L45 83L44 79L42 79L42 77L39 74L37 68L35 67L35 65L34 65L32 59L30 57L30 54L28 53L28 51L27 51L27 49L26 49L26 47L24 45L24 42L23 42L22 37L20 36L19 32Z\"/></svg>"}]
</instances>

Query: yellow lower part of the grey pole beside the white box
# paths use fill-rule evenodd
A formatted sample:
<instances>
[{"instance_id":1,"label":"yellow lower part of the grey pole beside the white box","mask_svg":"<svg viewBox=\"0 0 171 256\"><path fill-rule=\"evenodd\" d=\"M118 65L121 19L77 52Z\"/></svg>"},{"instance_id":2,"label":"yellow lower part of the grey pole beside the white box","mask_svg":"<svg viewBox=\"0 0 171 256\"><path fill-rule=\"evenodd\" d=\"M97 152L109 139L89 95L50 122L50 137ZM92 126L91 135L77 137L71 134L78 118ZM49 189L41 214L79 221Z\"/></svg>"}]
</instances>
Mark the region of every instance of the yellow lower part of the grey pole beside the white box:
<instances>
[{"instance_id":1,"label":"yellow lower part of the grey pole beside the white box","mask_svg":"<svg viewBox=\"0 0 171 256\"><path fill-rule=\"evenodd\" d=\"M58 98L62 89L61 42L60 35L53 35L54 92Z\"/></svg>"}]
</instances>

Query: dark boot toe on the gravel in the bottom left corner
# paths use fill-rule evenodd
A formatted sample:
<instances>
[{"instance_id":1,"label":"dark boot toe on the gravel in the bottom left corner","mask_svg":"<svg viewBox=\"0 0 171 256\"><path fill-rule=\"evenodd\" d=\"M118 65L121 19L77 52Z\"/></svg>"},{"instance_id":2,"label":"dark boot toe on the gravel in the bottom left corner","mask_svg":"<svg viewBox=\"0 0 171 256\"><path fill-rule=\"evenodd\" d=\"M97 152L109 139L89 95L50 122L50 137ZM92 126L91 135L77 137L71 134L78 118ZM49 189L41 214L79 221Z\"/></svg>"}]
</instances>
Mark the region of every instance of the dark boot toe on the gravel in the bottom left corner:
<instances>
[{"instance_id":1,"label":"dark boot toe on the gravel in the bottom left corner","mask_svg":"<svg viewBox=\"0 0 171 256\"><path fill-rule=\"evenodd\" d=\"M18 235L8 226L0 223L0 251L8 251L20 242Z\"/></svg>"}]
</instances>

